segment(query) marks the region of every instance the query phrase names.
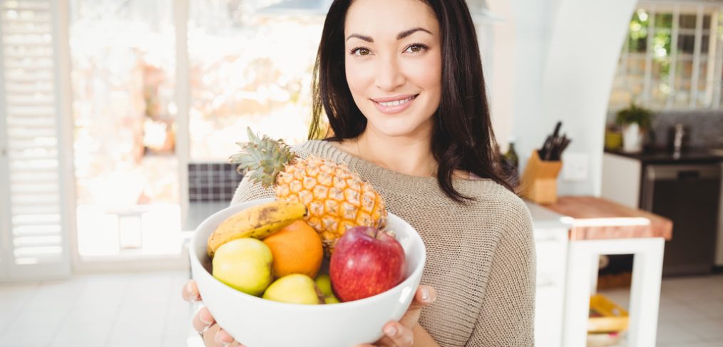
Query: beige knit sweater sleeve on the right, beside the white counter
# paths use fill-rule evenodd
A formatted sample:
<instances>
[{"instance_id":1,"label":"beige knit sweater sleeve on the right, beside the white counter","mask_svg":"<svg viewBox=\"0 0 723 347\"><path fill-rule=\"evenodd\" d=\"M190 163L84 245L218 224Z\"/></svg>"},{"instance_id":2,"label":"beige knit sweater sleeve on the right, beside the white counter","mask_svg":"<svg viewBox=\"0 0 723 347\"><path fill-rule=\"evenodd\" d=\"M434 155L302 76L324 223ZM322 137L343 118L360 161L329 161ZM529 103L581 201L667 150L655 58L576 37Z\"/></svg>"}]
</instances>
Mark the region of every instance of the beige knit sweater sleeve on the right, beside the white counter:
<instances>
[{"instance_id":1,"label":"beige knit sweater sleeve on the right, beside the white counter","mask_svg":"<svg viewBox=\"0 0 723 347\"><path fill-rule=\"evenodd\" d=\"M521 200L510 212L468 347L534 346L536 255L532 220Z\"/></svg>"}]
</instances>

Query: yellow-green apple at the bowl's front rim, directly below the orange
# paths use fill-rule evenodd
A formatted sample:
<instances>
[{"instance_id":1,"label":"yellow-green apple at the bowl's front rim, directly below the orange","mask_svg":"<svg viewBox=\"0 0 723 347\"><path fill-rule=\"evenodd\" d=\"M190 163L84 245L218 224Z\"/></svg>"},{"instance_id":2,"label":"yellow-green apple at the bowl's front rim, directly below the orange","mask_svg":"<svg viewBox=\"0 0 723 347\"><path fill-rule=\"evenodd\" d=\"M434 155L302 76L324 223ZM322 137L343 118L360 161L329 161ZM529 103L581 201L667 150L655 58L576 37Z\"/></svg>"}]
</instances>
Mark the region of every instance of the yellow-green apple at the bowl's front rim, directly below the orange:
<instances>
[{"instance_id":1,"label":"yellow-green apple at the bowl's front rim, directly below the orange","mask_svg":"<svg viewBox=\"0 0 723 347\"><path fill-rule=\"evenodd\" d=\"M289 304L320 304L314 280L300 273L292 273L275 280L266 289L263 298Z\"/></svg>"}]
</instances>

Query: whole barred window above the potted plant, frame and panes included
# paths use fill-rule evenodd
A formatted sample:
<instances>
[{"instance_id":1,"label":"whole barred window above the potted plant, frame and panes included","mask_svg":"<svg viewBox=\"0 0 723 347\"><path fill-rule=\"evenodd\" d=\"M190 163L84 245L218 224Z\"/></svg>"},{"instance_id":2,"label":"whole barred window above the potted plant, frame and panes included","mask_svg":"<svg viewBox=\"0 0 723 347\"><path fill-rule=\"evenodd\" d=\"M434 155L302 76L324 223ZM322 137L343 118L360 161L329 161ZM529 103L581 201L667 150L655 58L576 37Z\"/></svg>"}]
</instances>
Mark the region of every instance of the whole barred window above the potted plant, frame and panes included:
<instances>
[{"instance_id":1,"label":"whole barred window above the potted plant, frame and panes included","mask_svg":"<svg viewBox=\"0 0 723 347\"><path fill-rule=\"evenodd\" d=\"M609 108L721 108L723 4L641 2L620 53Z\"/></svg>"}]
</instances>

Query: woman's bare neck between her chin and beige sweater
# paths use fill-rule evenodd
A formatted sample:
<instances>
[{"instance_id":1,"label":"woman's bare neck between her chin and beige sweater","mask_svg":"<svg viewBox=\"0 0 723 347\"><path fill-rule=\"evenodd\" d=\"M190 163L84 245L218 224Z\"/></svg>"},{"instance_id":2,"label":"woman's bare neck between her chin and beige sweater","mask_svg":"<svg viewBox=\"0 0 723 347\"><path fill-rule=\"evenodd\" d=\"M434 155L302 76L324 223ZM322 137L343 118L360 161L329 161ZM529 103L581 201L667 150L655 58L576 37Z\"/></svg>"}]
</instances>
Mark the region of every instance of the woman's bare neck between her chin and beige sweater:
<instances>
[{"instance_id":1,"label":"woman's bare neck between her chin and beige sweater","mask_svg":"<svg viewBox=\"0 0 723 347\"><path fill-rule=\"evenodd\" d=\"M431 138L386 137L367 129L356 139L357 155L382 168L408 176L431 177L437 173Z\"/></svg>"}]
</instances>

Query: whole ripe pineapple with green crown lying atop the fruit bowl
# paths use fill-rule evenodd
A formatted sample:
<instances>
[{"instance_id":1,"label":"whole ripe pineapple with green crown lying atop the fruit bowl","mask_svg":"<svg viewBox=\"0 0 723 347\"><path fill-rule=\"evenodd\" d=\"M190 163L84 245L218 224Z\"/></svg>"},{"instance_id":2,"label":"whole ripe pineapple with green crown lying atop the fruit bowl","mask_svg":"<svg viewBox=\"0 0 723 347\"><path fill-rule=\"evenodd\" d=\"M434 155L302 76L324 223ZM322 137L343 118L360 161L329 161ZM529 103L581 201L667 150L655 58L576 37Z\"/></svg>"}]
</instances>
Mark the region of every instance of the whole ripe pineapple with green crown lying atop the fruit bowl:
<instances>
[{"instance_id":1,"label":"whole ripe pineapple with green crown lying atop the fruit bowl","mask_svg":"<svg viewBox=\"0 0 723 347\"><path fill-rule=\"evenodd\" d=\"M273 187L278 200L307 205L307 223L328 254L347 228L384 227L387 210L381 195L346 165L315 156L300 159L283 140L260 139L247 131L249 142L238 143L241 151L231 155L231 163L239 164L239 172L253 171L251 181Z\"/></svg>"}]
</instances>

